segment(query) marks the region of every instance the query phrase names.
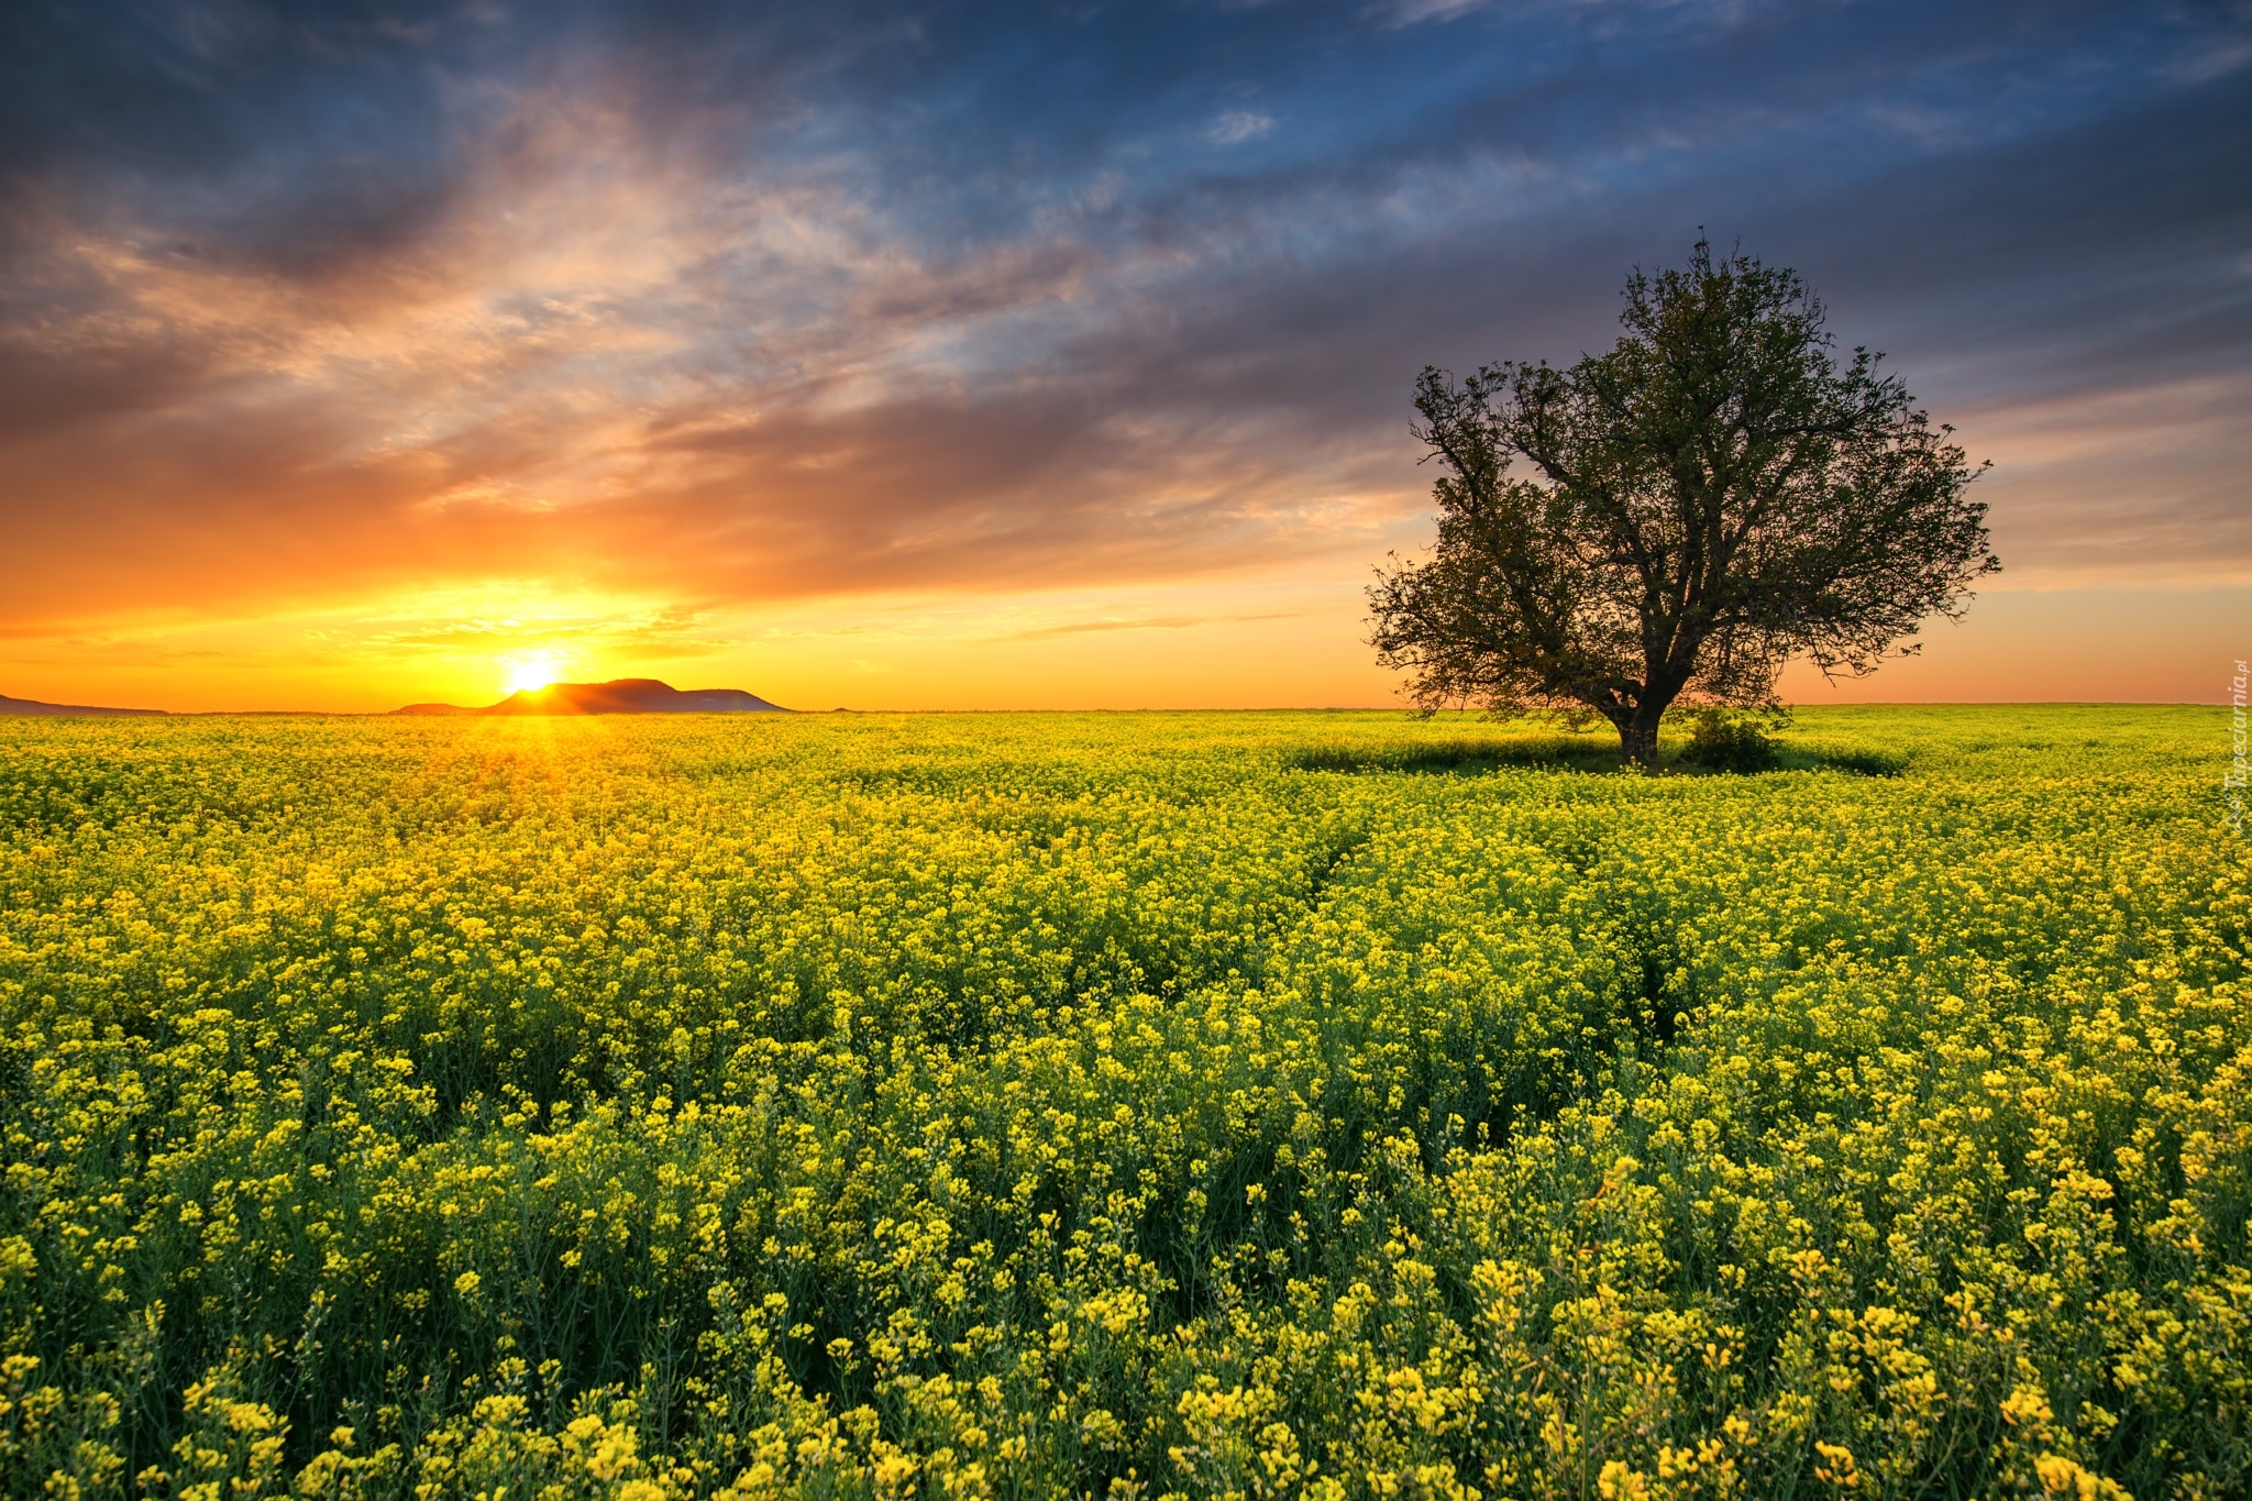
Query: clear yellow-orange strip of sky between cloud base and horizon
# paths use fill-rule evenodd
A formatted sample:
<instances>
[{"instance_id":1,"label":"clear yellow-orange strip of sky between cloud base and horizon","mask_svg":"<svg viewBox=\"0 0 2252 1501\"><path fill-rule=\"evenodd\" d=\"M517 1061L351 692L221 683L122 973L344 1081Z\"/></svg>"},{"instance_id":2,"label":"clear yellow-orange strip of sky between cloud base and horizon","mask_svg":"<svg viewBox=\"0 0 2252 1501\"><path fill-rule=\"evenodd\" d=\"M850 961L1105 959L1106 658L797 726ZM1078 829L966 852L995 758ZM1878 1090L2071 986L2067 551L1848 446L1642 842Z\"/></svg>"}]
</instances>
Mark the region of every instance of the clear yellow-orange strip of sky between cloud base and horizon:
<instances>
[{"instance_id":1,"label":"clear yellow-orange strip of sky between cloud base and horizon","mask_svg":"<svg viewBox=\"0 0 2252 1501\"><path fill-rule=\"evenodd\" d=\"M1356 578L1209 581L1016 596L806 601L696 621L513 596L493 617L252 617L16 641L9 691L50 702L194 709L482 704L545 677L748 686L793 709L1383 707ZM495 592L495 599L500 594ZM617 601L601 601L615 605ZM543 617L538 610L561 608ZM498 610L516 610L498 614ZM1989 590L1964 623L1862 682L1786 675L1824 702L2220 702L2252 653L2252 590Z\"/></svg>"}]
</instances>

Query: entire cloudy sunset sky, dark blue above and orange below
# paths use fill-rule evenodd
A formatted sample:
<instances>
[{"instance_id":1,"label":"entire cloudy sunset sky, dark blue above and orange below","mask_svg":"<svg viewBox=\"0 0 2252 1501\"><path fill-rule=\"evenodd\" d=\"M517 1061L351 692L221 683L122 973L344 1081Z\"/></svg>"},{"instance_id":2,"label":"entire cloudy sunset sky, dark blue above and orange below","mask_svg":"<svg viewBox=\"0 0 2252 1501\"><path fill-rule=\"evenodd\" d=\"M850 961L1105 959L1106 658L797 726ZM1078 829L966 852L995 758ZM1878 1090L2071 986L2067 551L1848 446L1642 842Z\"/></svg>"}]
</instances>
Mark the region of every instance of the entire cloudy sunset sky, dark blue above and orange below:
<instances>
[{"instance_id":1,"label":"entire cloudy sunset sky, dark blue above and orange below","mask_svg":"<svg viewBox=\"0 0 2252 1501\"><path fill-rule=\"evenodd\" d=\"M1795 702L2252 655L2252 7L0 9L0 693L1392 704L1423 365L1698 234L1957 428L2004 572Z\"/></svg>"}]
</instances>

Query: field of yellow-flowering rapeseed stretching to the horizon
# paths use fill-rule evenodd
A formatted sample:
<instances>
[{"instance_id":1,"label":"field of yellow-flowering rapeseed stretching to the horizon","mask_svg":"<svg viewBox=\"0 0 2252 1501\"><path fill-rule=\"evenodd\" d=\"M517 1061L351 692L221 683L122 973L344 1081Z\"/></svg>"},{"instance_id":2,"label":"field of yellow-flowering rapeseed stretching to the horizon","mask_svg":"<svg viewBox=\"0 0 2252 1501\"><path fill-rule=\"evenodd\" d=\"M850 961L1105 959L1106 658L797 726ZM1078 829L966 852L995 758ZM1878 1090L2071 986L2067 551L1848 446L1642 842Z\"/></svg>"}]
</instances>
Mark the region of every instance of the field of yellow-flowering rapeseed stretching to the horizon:
<instances>
[{"instance_id":1,"label":"field of yellow-flowering rapeseed stretching to the horizon","mask_svg":"<svg viewBox=\"0 0 2252 1501\"><path fill-rule=\"evenodd\" d=\"M2218 716L1500 734L0 725L0 1490L2245 1494Z\"/></svg>"}]
</instances>

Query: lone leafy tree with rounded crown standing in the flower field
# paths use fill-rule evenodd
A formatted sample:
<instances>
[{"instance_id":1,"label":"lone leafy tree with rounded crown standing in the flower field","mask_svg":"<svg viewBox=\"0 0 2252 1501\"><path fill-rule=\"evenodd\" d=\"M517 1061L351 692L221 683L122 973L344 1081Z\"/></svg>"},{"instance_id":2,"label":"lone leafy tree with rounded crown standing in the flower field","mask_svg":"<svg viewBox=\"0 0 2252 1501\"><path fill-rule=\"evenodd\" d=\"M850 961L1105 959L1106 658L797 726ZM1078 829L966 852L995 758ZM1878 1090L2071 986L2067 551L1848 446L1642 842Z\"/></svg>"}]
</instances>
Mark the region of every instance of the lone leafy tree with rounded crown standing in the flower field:
<instances>
[{"instance_id":1,"label":"lone leafy tree with rounded crown standing in the flower field","mask_svg":"<svg viewBox=\"0 0 2252 1501\"><path fill-rule=\"evenodd\" d=\"M1700 239L1619 322L1570 369L1417 380L1439 542L1369 605L1423 709L1599 713L1648 772L1673 702L1772 709L1795 655L1862 677L2002 567L1952 428L1883 356L1840 362L1797 272Z\"/></svg>"}]
</instances>

